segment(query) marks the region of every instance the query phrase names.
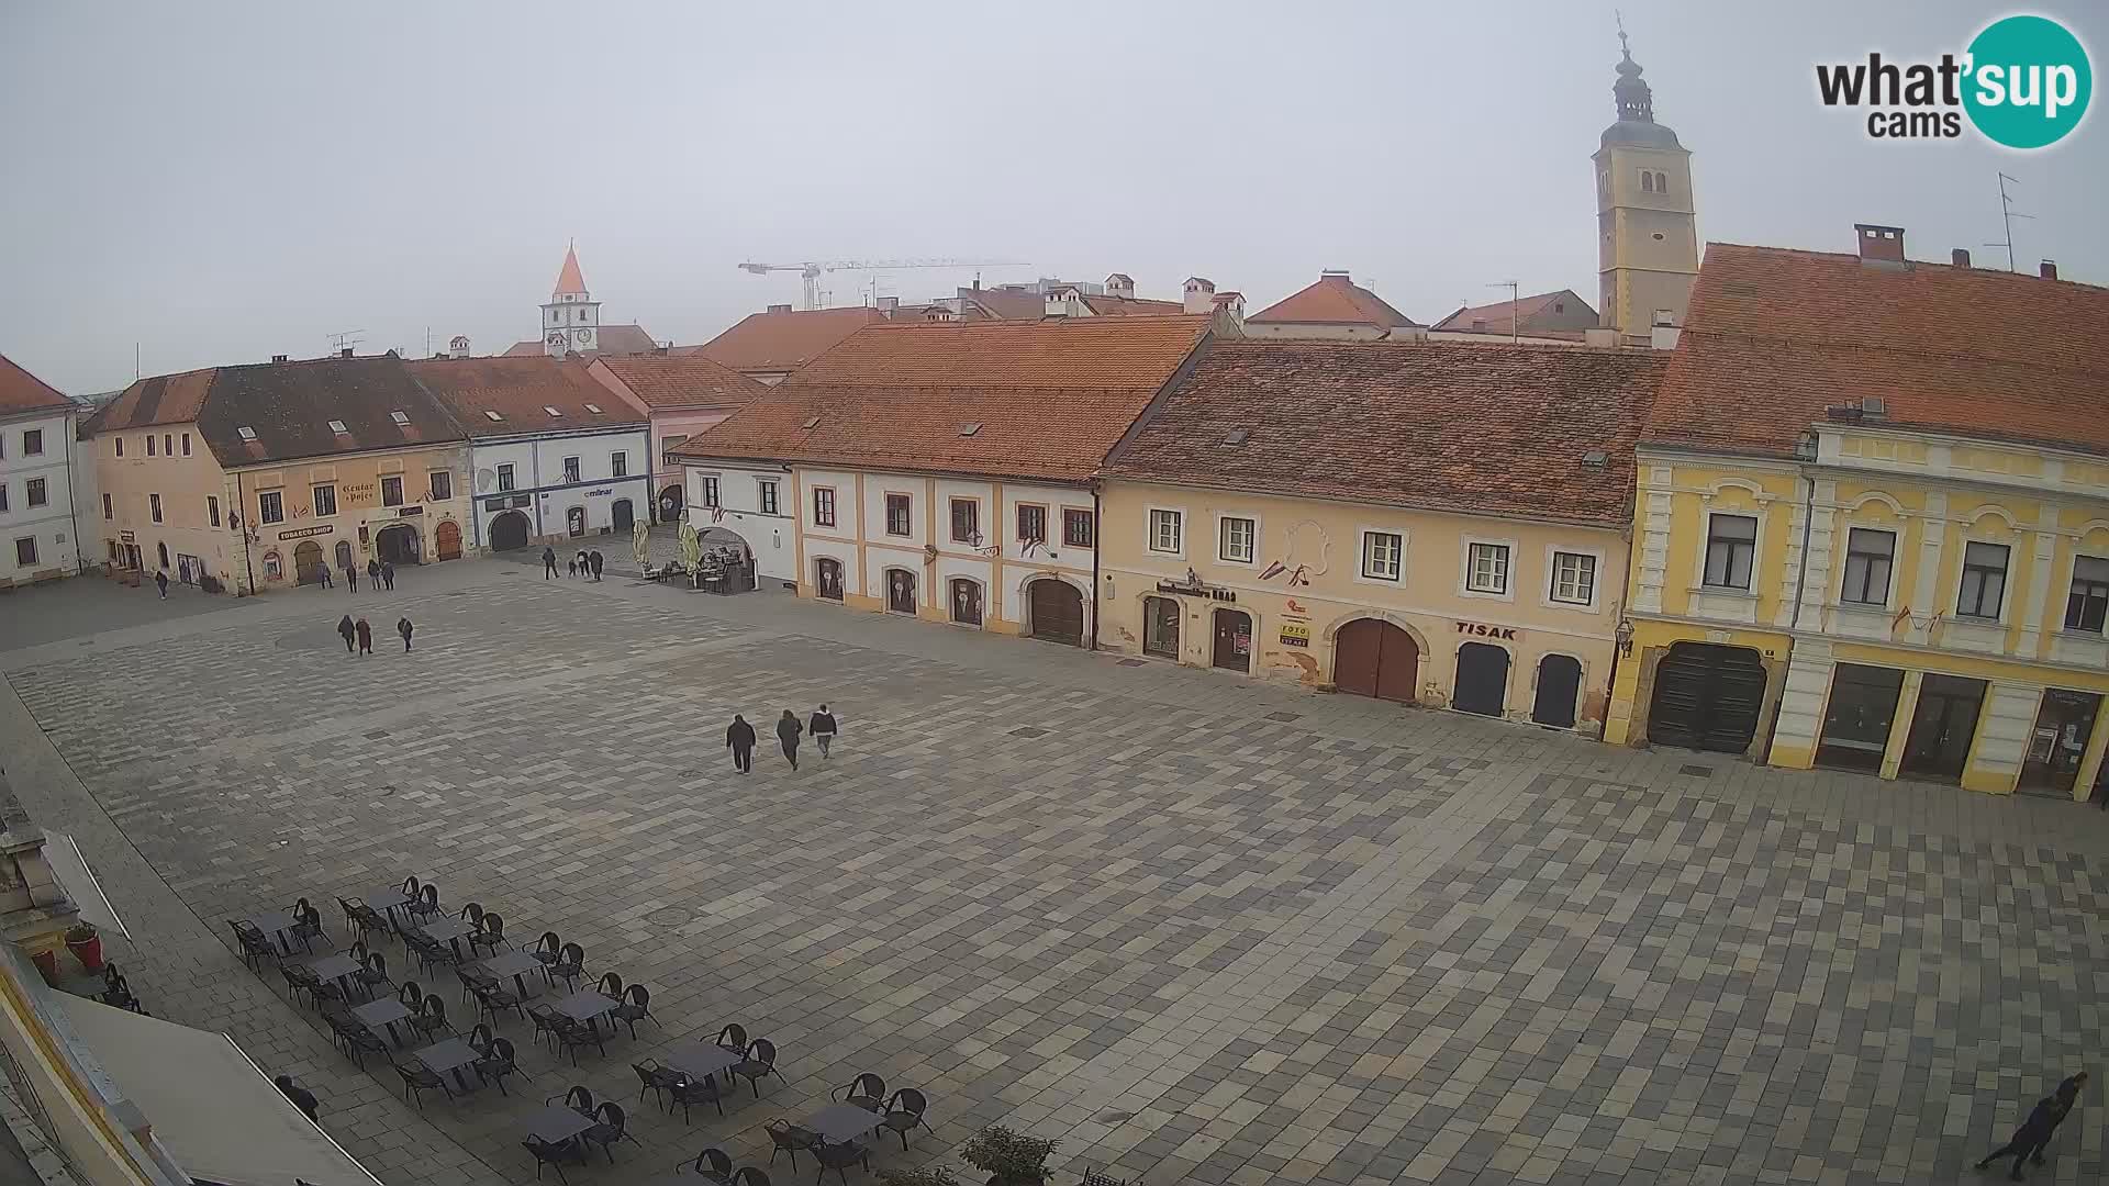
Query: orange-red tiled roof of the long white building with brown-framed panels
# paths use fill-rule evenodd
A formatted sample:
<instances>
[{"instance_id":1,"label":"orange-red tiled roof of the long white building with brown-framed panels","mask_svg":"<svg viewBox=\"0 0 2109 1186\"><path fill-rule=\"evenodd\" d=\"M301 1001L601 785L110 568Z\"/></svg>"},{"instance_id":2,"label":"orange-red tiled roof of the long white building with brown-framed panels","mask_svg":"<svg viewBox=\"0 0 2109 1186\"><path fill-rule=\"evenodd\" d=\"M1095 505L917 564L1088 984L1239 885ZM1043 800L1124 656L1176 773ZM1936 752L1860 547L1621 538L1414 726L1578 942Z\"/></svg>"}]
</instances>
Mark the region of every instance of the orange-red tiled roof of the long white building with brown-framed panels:
<instances>
[{"instance_id":1,"label":"orange-red tiled roof of the long white building with brown-framed panels","mask_svg":"<svg viewBox=\"0 0 2109 1186\"><path fill-rule=\"evenodd\" d=\"M877 325L675 454L1086 481L1206 329L1206 317Z\"/></svg>"}]
</instances>

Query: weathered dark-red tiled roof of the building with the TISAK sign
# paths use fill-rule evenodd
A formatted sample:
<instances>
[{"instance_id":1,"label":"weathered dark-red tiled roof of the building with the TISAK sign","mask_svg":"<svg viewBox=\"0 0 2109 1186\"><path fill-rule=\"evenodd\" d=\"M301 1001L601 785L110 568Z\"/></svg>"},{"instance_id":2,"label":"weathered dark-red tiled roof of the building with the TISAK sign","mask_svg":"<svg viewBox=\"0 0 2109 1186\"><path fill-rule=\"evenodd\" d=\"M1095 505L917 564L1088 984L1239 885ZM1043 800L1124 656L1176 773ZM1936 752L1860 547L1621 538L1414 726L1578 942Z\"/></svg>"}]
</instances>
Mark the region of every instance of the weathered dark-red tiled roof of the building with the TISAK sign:
<instances>
[{"instance_id":1,"label":"weathered dark-red tiled roof of the building with the TISAK sign","mask_svg":"<svg viewBox=\"0 0 2109 1186\"><path fill-rule=\"evenodd\" d=\"M1105 475L1611 528L1630 517L1632 441L1664 365L1649 350L1219 342Z\"/></svg>"}]
</instances>

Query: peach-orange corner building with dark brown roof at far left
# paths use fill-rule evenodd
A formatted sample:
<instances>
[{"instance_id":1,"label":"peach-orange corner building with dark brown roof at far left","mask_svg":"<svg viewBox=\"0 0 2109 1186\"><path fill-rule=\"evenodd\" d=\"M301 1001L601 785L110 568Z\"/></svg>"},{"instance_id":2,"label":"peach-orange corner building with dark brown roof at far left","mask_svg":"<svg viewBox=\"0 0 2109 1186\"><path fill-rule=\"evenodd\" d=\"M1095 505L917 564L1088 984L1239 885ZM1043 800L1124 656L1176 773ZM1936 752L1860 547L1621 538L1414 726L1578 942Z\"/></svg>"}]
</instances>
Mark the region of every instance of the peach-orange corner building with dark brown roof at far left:
<instances>
[{"instance_id":1,"label":"peach-orange corner building with dark brown roof at far left","mask_svg":"<svg viewBox=\"0 0 2109 1186\"><path fill-rule=\"evenodd\" d=\"M146 378L97 412L114 568L257 593L462 555L468 447L394 355Z\"/></svg>"}]
</instances>

